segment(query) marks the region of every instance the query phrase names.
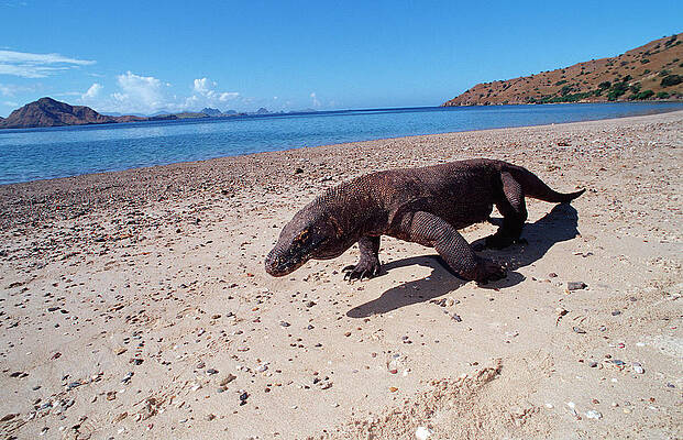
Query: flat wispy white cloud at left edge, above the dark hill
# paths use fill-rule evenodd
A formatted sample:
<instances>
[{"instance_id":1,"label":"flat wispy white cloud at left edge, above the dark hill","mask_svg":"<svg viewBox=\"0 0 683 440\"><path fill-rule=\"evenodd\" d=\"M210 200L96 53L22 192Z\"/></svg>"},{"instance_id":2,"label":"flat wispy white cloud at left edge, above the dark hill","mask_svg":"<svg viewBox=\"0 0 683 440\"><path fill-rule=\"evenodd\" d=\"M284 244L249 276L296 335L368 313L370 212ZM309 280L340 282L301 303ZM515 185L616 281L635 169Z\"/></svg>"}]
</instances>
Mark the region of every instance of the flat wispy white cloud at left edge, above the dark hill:
<instances>
[{"instance_id":1,"label":"flat wispy white cloud at left edge, above the dark hill","mask_svg":"<svg viewBox=\"0 0 683 440\"><path fill-rule=\"evenodd\" d=\"M0 51L0 75L12 75L23 78L44 78L59 72L89 66L95 63L93 61L70 58L59 54Z\"/></svg>"}]
</instances>

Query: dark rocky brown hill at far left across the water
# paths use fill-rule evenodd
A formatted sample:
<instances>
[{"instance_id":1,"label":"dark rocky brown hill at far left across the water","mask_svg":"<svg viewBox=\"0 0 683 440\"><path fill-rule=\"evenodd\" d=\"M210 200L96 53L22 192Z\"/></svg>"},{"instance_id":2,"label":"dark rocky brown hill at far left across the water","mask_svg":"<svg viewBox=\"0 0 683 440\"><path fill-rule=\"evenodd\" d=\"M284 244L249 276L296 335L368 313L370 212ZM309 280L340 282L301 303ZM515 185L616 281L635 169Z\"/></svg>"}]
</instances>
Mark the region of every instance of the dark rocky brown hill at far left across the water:
<instances>
[{"instance_id":1,"label":"dark rocky brown hill at far left across the water","mask_svg":"<svg viewBox=\"0 0 683 440\"><path fill-rule=\"evenodd\" d=\"M70 106L52 98L41 98L14 110L4 120L0 129L27 129L34 127L85 125L117 122L144 121L145 118L124 116L110 117L100 114L89 107Z\"/></svg>"}]
</instances>

